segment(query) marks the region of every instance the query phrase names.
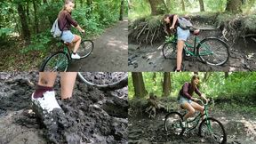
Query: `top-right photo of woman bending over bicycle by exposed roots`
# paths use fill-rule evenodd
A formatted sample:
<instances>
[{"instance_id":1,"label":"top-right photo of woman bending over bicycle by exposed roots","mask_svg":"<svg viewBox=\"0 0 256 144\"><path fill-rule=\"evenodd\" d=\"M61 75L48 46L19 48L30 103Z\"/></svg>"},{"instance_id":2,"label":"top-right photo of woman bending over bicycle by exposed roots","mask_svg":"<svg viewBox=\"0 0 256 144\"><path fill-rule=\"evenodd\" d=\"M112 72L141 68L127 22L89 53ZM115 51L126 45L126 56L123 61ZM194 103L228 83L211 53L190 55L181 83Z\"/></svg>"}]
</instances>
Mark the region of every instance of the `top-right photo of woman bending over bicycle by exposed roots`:
<instances>
[{"instance_id":1,"label":"top-right photo of woman bending over bicycle by exposed roots","mask_svg":"<svg viewBox=\"0 0 256 144\"><path fill-rule=\"evenodd\" d=\"M255 3L130 1L128 70L255 71Z\"/></svg>"}]
</instances>

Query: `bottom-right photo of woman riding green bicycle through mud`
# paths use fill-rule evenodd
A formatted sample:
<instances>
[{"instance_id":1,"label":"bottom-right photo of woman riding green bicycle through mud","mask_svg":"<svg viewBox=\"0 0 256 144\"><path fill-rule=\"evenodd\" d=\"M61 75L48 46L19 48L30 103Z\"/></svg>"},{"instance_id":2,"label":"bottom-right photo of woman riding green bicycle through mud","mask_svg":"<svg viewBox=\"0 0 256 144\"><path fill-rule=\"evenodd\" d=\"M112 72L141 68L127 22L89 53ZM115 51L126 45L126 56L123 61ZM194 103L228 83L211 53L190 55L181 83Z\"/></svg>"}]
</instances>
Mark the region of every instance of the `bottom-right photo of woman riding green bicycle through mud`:
<instances>
[{"instance_id":1,"label":"bottom-right photo of woman riding green bicycle through mud","mask_svg":"<svg viewBox=\"0 0 256 144\"><path fill-rule=\"evenodd\" d=\"M256 142L256 72L129 72L128 78L129 143Z\"/></svg>"}]
</instances>

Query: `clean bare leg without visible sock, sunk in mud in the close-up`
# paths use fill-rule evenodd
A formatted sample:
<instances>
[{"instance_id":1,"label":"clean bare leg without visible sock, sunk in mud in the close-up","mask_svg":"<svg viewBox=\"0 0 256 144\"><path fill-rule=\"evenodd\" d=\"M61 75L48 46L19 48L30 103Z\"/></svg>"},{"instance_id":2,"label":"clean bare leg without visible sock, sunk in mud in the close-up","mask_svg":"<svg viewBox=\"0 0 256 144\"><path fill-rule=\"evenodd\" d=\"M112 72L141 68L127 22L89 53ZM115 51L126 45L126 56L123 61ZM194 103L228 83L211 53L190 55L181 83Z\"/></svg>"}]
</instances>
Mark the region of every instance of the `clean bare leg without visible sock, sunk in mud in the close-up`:
<instances>
[{"instance_id":1,"label":"clean bare leg without visible sock, sunk in mud in the close-up","mask_svg":"<svg viewBox=\"0 0 256 144\"><path fill-rule=\"evenodd\" d=\"M77 75L77 72L60 73L61 100L72 97L74 85L76 82L76 75Z\"/></svg>"}]
</instances>

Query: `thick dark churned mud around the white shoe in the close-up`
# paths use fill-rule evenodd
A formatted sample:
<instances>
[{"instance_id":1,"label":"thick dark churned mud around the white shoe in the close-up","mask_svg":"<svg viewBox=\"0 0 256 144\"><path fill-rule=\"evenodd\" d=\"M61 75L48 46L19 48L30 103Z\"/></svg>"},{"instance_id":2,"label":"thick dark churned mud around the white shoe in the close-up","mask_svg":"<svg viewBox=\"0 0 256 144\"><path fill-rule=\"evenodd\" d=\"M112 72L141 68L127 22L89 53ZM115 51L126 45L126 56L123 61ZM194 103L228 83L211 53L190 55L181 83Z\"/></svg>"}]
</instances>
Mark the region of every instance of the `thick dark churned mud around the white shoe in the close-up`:
<instances>
[{"instance_id":1,"label":"thick dark churned mud around the white shoe in the close-up","mask_svg":"<svg viewBox=\"0 0 256 144\"><path fill-rule=\"evenodd\" d=\"M51 123L32 111L37 73L0 73L0 143L126 143L127 87L102 92L76 80L70 100L57 99L65 112L53 110ZM60 89L58 78L55 90ZM51 117L51 116L50 116ZM47 119L48 118L48 119Z\"/></svg>"}]
</instances>

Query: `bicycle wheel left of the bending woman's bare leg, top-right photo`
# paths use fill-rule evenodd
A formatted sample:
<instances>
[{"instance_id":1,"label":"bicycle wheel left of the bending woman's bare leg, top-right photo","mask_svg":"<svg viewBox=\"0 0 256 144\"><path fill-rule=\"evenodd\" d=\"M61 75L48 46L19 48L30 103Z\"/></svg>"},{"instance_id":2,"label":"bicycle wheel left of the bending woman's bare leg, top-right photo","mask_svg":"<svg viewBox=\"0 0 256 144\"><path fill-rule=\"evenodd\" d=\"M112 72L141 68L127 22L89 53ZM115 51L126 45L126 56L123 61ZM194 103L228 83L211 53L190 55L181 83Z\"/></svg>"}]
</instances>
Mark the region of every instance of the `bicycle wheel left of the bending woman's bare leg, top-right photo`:
<instances>
[{"instance_id":1,"label":"bicycle wheel left of the bending woman's bare leg, top-right photo","mask_svg":"<svg viewBox=\"0 0 256 144\"><path fill-rule=\"evenodd\" d=\"M175 43L165 43L163 48L162 48L162 53L164 56L164 59L172 59L176 60L176 44Z\"/></svg>"}]
</instances>

